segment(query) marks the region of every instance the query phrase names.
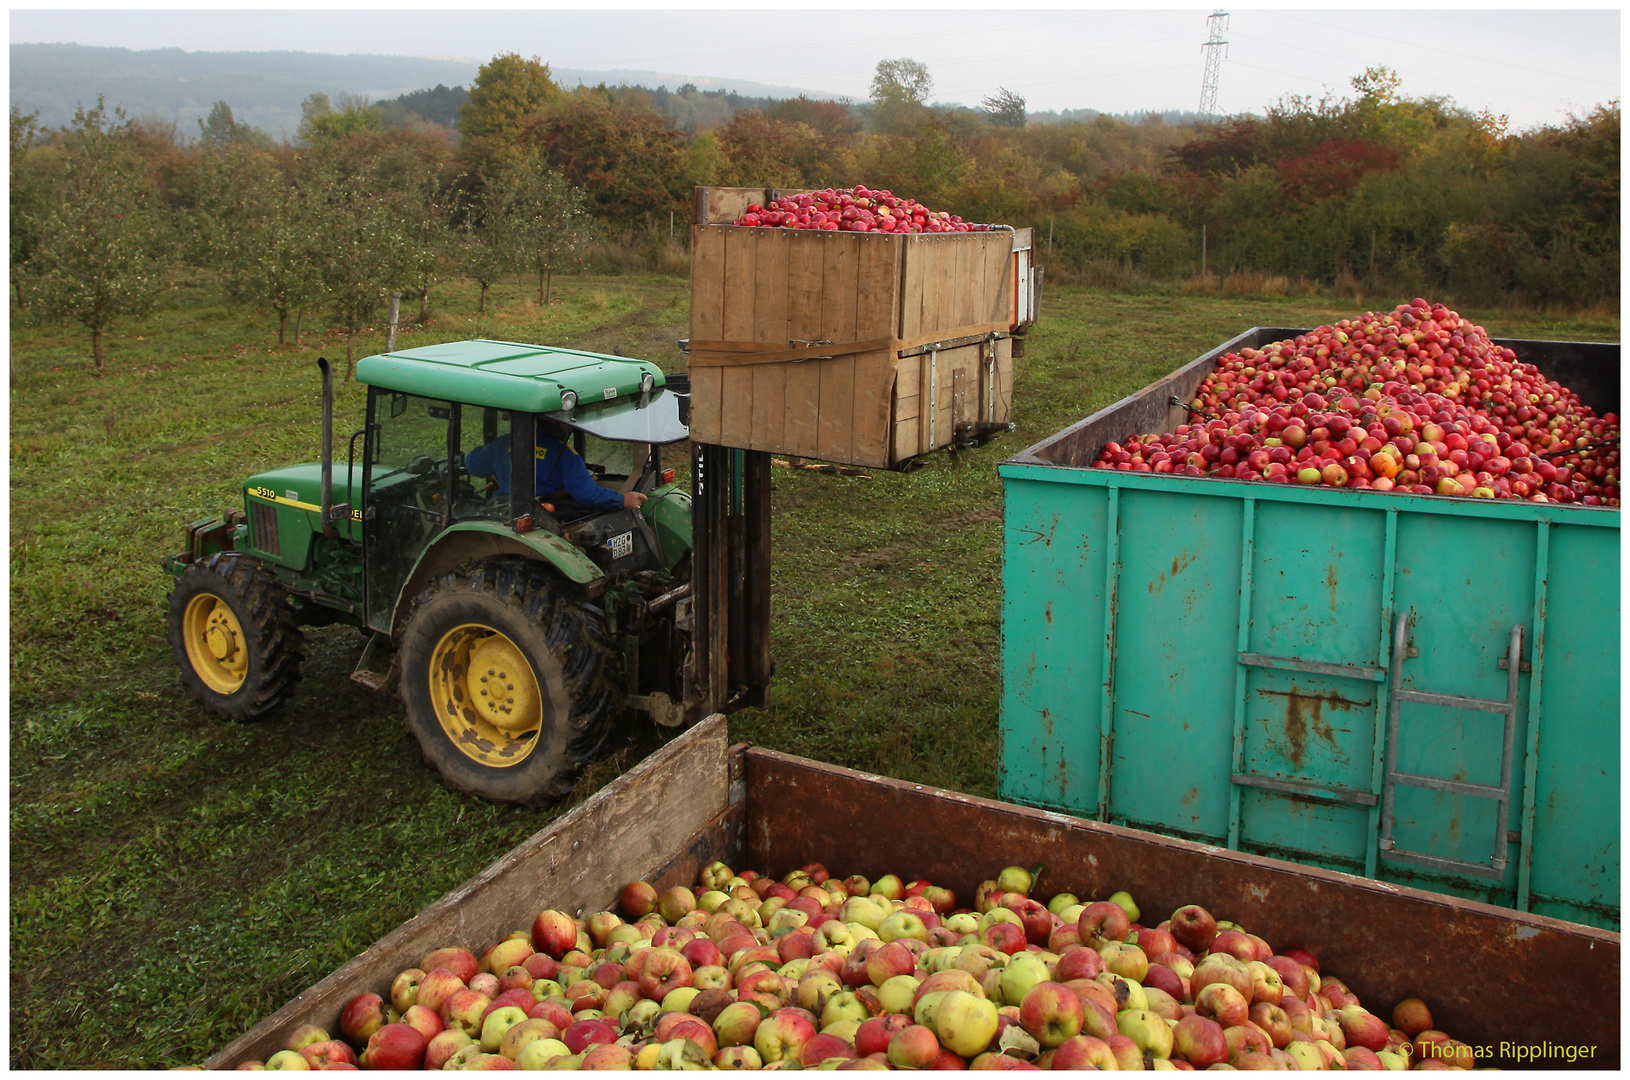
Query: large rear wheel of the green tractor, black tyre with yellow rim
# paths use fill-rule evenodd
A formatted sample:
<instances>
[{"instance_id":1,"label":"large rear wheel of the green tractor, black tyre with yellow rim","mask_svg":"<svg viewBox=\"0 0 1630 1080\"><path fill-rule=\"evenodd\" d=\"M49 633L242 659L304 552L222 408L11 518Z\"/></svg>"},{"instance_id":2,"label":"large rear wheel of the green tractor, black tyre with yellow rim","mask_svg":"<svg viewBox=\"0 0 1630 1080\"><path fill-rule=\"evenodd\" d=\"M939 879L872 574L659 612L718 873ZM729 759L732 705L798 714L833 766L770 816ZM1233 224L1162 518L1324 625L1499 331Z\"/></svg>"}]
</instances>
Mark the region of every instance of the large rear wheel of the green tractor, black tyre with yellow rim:
<instances>
[{"instance_id":1,"label":"large rear wheel of the green tractor, black tyre with yellow rim","mask_svg":"<svg viewBox=\"0 0 1630 1080\"><path fill-rule=\"evenodd\" d=\"M481 650L499 656L481 661L484 673L473 663ZM408 730L448 785L538 806L569 793L579 766L605 743L616 715L615 663L600 609L572 601L546 569L466 562L408 612L398 647ZM487 697L486 686L509 696Z\"/></svg>"}]
</instances>

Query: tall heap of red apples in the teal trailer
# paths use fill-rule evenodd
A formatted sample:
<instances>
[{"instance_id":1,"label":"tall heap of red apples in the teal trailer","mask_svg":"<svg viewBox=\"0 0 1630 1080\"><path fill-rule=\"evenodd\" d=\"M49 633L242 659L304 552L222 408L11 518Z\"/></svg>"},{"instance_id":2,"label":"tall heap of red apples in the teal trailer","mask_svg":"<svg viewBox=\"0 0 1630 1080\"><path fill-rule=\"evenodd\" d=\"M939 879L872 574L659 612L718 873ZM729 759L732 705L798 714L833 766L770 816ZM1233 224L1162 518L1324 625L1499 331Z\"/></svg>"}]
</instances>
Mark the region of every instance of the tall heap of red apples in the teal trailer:
<instances>
[{"instance_id":1,"label":"tall heap of red apples in the teal trailer","mask_svg":"<svg viewBox=\"0 0 1630 1080\"><path fill-rule=\"evenodd\" d=\"M1188 406L1094 468L1619 505L1619 417L1423 298L1224 353Z\"/></svg>"}]
</instances>

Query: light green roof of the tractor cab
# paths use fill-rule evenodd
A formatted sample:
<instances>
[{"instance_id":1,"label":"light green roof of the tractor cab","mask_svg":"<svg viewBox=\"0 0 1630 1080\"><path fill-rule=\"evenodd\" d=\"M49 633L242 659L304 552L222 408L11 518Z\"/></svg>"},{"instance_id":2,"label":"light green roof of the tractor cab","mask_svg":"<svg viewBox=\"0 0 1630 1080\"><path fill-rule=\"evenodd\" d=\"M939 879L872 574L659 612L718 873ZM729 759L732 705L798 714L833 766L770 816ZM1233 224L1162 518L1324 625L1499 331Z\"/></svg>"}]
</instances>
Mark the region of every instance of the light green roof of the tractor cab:
<instances>
[{"instance_id":1,"label":"light green roof of the tractor cab","mask_svg":"<svg viewBox=\"0 0 1630 1080\"><path fill-rule=\"evenodd\" d=\"M654 386L665 384L662 368L649 360L484 339L357 362L357 381L368 386L522 412L556 412L566 391L577 394L579 409L636 396L647 371Z\"/></svg>"}]
</instances>

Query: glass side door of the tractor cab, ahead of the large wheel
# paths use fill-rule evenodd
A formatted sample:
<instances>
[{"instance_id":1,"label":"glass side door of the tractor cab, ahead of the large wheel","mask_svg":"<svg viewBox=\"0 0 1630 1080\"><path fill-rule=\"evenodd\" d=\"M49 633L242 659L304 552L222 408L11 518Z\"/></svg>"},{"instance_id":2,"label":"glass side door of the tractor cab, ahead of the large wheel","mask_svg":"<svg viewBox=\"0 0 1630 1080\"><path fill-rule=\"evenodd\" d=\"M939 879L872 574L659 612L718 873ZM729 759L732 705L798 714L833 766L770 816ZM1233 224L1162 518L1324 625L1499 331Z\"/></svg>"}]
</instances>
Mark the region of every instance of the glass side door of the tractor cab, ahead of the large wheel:
<instances>
[{"instance_id":1,"label":"glass side door of the tractor cab, ahead of the large wheel","mask_svg":"<svg viewBox=\"0 0 1630 1080\"><path fill-rule=\"evenodd\" d=\"M448 425L445 401L377 391L367 510L363 511L368 617L388 626L396 593L447 523Z\"/></svg>"}]
</instances>

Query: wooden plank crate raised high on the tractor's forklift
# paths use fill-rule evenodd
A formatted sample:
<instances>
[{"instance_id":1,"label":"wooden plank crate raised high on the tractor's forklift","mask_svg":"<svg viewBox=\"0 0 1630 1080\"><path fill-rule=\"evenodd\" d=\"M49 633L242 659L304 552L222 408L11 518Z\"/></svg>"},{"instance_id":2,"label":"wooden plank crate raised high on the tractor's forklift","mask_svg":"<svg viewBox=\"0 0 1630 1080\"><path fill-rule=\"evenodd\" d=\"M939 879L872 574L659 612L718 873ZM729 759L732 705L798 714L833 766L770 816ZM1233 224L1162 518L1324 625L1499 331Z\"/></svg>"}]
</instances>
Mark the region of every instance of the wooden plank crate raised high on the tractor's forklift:
<instances>
[{"instance_id":1,"label":"wooden plank crate raised high on the tractor's forklift","mask_svg":"<svg viewBox=\"0 0 1630 1080\"><path fill-rule=\"evenodd\" d=\"M691 230L691 437L896 466L1006 424L1014 249L991 233L717 223L776 192L704 189Z\"/></svg>"}]
</instances>

